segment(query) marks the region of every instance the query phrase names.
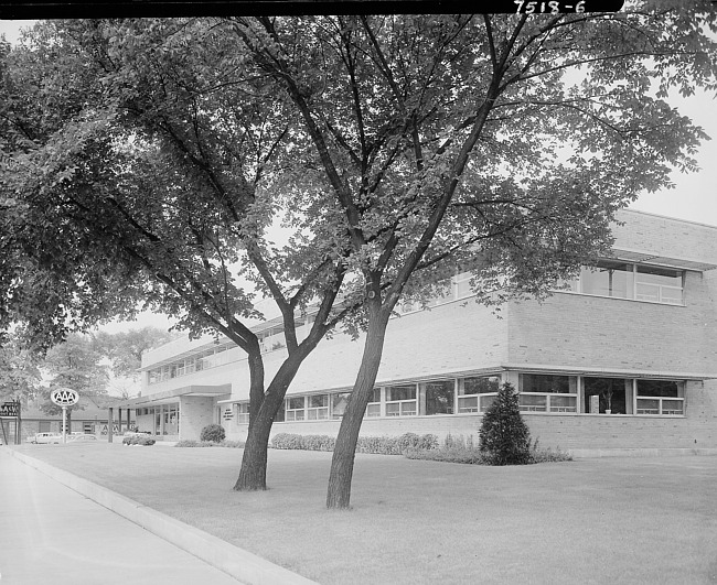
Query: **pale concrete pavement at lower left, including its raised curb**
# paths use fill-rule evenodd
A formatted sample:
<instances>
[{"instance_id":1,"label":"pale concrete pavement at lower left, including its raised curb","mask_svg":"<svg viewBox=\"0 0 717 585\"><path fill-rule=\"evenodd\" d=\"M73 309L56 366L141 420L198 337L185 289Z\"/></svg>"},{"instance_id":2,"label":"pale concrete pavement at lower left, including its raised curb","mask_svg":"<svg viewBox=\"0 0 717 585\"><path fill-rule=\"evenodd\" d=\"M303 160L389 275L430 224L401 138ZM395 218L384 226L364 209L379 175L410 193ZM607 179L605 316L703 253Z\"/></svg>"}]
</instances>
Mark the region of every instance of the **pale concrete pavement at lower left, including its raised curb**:
<instances>
[{"instance_id":1,"label":"pale concrete pavement at lower left, including its raised curb","mask_svg":"<svg viewBox=\"0 0 717 585\"><path fill-rule=\"evenodd\" d=\"M312 583L12 448L0 449L0 527L1 585Z\"/></svg>"}]
</instances>

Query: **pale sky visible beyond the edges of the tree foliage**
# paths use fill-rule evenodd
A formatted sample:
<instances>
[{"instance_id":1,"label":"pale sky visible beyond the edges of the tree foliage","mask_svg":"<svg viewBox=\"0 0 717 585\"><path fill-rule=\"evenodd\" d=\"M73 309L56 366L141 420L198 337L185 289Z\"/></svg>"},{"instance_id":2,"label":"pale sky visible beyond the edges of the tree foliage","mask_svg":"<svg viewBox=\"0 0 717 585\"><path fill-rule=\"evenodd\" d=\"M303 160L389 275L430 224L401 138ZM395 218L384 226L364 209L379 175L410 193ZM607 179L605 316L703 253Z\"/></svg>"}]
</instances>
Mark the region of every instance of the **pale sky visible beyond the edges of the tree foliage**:
<instances>
[{"instance_id":1,"label":"pale sky visible beyond the edges of the tree foliage","mask_svg":"<svg viewBox=\"0 0 717 585\"><path fill-rule=\"evenodd\" d=\"M4 34L13 43L18 40L20 30L31 26L33 22L0 20L0 35ZM672 176L674 188L642 194L630 208L717 226L717 96L704 91L688 98L675 95L671 96L670 104L702 127L713 140L703 142L698 149L695 156L700 167L698 173L682 174L675 171ZM159 316L147 316L147 324L156 326L165 323Z\"/></svg>"}]
</instances>

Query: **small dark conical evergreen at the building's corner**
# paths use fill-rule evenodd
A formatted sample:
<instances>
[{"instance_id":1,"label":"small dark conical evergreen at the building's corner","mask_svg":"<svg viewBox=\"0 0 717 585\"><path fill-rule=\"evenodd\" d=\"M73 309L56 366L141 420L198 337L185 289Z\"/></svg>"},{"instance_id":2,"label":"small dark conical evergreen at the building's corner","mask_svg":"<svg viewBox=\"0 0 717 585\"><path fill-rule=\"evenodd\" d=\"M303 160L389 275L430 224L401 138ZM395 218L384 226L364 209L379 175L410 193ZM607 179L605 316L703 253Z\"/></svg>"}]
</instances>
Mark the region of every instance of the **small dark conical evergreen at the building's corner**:
<instances>
[{"instance_id":1,"label":"small dark conical evergreen at the building's corner","mask_svg":"<svg viewBox=\"0 0 717 585\"><path fill-rule=\"evenodd\" d=\"M525 465L531 462L531 432L521 416L517 392L509 382L501 386L485 410L479 449L494 465Z\"/></svg>"}]
</instances>

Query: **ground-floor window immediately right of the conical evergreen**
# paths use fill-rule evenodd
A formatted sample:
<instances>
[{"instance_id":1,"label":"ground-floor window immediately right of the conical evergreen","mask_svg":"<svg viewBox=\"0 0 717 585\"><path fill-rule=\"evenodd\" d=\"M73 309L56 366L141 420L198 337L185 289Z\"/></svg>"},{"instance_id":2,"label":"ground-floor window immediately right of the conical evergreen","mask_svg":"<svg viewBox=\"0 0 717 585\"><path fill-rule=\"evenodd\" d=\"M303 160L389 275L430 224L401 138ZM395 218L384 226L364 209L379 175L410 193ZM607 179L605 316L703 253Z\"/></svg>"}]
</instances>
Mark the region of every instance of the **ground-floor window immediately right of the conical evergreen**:
<instances>
[{"instance_id":1,"label":"ground-floor window immediately right of the conical evergreen","mask_svg":"<svg viewBox=\"0 0 717 585\"><path fill-rule=\"evenodd\" d=\"M518 407L526 412L577 412L575 376L521 373Z\"/></svg>"}]
</instances>

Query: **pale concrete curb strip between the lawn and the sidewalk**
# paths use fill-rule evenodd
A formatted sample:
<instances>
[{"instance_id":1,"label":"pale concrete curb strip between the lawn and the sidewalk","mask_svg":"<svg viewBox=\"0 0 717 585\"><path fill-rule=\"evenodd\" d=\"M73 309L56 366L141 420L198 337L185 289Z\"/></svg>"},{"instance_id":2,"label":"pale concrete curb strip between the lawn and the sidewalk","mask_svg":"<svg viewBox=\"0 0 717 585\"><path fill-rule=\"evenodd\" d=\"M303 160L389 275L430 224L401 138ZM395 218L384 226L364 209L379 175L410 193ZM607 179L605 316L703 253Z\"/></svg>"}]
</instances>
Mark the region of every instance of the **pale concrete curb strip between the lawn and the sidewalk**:
<instances>
[{"instance_id":1,"label":"pale concrete curb strip between the lawn and the sidewalk","mask_svg":"<svg viewBox=\"0 0 717 585\"><path fill-rule=\"evenodd\" d=\"M180 522L115 491L33 459L15 449L7 449L22 463L60 481L86 498L193 554L247 585L318 585L314 581L239 549L203 530Z\"/></svg>"}]
</instances>

